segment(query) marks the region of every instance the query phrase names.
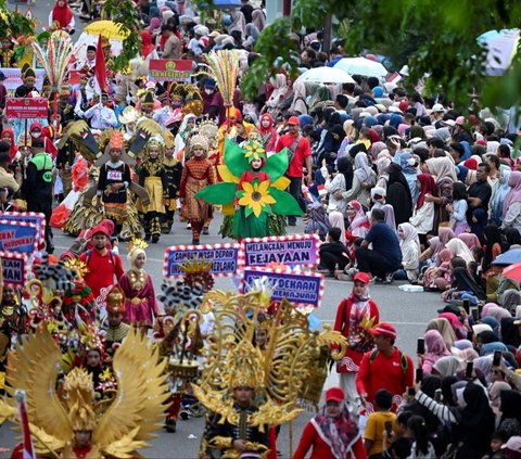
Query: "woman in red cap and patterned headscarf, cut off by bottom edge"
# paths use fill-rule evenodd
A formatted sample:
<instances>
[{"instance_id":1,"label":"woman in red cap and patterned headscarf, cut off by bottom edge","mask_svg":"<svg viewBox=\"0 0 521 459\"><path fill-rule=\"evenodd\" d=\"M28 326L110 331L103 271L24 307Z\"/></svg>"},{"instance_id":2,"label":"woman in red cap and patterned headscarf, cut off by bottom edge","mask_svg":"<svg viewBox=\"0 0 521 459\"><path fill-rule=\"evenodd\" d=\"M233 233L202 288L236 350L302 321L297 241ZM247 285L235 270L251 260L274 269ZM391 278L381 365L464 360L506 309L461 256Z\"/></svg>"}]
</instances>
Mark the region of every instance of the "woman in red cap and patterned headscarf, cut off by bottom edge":
<instances>
[{"instance_id":1,"label":"woman in red cap and patterned headscarf, cut off by bottom edge","mask_svg":"<svg viewBox=\"0 0 521 459\"><path fill-rule=\"evenodd\" d=\"M344 403L344 391L331 387L326 405L304 428L293 459L365 459L366 449L357 423Z\"/></svg>"}]
</instances>

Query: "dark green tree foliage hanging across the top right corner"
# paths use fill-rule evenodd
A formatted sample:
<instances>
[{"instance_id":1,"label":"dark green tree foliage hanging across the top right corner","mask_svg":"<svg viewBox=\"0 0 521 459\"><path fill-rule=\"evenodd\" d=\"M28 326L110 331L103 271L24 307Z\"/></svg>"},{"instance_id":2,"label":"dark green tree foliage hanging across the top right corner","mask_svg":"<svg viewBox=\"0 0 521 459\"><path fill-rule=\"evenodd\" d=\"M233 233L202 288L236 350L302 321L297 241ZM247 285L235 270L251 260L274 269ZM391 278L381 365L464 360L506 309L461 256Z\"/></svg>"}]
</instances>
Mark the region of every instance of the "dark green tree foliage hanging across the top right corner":
<instances>
[{"instance_id":1,"label":"dark green tree foliage hanging across the top right corner","mask_svg":"<svg viewBox=\"0 0 521 459\"><path fill-rule=\"evenodd\" d=\"M295 65L285 48L290 33L302 26L320 28L327 14L342 23L339 38L345 39L350 55L382 53L396 68L407 63L409 81L428 75L427 90L444 92L459 109L467 109L469 94L474 93L490 106L520 100L520 60L507 75L486 77L486 49L476 41L487 30L521 24L521 2L514 0L298 0L290 17L263 30L255 47L262 58L243 81L246 95L282 63Z\"/></svg>"}]
</instances>

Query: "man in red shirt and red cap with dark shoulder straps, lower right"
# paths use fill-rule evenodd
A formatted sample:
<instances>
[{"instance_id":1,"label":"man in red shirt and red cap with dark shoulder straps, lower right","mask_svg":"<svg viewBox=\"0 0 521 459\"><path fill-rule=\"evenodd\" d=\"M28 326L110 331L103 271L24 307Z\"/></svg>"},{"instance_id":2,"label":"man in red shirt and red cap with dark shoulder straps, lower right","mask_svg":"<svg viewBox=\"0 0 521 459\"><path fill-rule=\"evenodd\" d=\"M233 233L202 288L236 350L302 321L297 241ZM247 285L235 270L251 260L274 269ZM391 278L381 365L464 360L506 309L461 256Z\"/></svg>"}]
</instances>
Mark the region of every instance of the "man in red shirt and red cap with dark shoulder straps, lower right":
<instances>
[{"instance_id":1,"label":"man in red shirt and red cap with dark shoulder straps, lower right","mask_svg":"<svg viewBox=\"0 0 521 459\"><path fill-rule=\"evenodd\" d=\"M374 394L381 388L393 394L393 411L396 411L402 395L414 384L415 365L394 345L396 329L391 323L381 322L370 331L377 348L364 355L356 388L368 413L373 411Z\"/></svg>"}]
</instances>

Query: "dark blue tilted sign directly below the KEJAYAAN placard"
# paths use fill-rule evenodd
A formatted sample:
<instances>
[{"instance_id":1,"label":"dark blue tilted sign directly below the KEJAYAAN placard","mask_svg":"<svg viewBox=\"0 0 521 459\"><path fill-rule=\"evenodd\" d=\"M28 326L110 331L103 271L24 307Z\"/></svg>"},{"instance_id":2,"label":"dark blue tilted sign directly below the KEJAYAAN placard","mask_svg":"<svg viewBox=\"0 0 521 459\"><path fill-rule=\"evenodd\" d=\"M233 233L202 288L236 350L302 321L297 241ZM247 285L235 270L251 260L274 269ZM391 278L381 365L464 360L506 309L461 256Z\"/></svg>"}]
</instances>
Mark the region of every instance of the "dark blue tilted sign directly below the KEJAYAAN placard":
<instances>
[{"instance_id":1,"label":"dark blue tilted sign directly below the KEJAYAAN placard","mask_svg":"<svg viewBox=\"0 0 521 459\"><path fill-rule=\"evenodd\" d=\"M282 298L287 298L289 302L300 305L313 305L315 307L320 305L323 295L322 275L245 268L242 278L242 292L249 292L253 281L262 277L267 277L271 284L276 285L271 301L280 302Z\"/></svg>"}]
</instances>

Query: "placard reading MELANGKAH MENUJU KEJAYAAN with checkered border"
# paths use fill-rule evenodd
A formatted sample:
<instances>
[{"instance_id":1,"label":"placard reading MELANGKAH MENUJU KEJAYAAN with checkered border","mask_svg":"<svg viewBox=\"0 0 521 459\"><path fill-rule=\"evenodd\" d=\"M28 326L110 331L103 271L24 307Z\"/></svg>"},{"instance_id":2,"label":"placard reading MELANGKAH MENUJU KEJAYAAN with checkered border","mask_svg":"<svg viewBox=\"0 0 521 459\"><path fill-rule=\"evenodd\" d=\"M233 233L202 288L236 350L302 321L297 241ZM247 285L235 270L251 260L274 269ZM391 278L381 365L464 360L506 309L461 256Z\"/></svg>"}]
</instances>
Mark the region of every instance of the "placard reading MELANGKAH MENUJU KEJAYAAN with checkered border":
<instances>
[{"instance_id":1,"label":"placard reading MELANGKAH MENUJU KEJAYAAN with checkered border","mask_svg":"<svg viewBox=\"0 0 521 459\"><path fill-rule=\"evenodd\" d=\"M289 234L267 238L245 238L241 241L244 266L312 266L318 264L317 234Z\"/></svg>"}]
</instances>

